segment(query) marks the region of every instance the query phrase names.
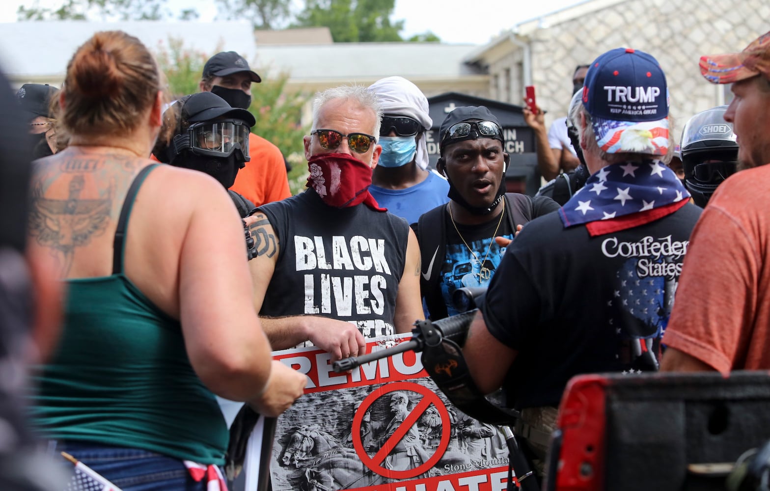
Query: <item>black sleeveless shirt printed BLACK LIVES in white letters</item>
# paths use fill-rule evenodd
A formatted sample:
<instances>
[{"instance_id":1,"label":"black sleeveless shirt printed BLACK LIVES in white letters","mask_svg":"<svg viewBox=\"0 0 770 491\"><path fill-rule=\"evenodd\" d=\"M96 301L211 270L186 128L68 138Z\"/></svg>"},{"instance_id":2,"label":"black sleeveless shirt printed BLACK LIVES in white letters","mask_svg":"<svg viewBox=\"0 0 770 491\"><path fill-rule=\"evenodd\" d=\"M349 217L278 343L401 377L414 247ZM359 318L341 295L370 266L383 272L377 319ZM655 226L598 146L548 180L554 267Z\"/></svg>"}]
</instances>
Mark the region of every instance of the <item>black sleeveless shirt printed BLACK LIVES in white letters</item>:
<instances>
[{"instance_id":1,"label":"black sleeveless shirt printed BLACK LIVES in white letters","mask_svg":"<svg viewBox=\"0 0 770 491\"><path fill-rule=\"evenodd\" d=\"M396 332L405 219L363 204L336 209L313 189L259 209L280 244L260 316L330 317L353 322L365 337Z\"/></svg>"}]
</instances>

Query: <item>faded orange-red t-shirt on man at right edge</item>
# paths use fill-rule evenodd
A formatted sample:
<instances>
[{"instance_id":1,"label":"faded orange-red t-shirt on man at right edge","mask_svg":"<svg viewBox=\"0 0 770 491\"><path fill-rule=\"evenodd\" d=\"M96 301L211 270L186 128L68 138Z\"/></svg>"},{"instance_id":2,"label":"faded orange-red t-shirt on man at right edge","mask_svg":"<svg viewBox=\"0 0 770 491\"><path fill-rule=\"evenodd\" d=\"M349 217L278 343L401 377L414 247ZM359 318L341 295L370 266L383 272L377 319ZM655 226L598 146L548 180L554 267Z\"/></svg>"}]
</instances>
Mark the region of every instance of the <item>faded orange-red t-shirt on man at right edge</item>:
<instances>
[{"instance_id":1,"label":"faded orange-red t-shirt on man at right edge","mask_svg":"<svg viewBox=\"0 0 770 491\"><path fill-rule=\"evenodd\" d=\"M770 165L731 175L693 229L663 342L714 367L770 369Z\"/></svg>"}]
</instances>

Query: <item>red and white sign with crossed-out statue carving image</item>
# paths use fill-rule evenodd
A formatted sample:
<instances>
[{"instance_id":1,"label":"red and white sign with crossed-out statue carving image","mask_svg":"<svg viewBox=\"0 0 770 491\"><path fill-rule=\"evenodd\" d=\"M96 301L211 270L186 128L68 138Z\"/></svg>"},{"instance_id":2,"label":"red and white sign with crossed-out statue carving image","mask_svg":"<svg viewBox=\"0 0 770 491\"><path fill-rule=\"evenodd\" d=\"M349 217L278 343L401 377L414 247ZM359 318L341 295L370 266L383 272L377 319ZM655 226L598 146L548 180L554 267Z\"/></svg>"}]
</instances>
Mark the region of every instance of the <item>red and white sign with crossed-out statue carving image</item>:
<instances>
[{"instance_id":1,"label":"red and white sign with crossed-out statue carving image","mask_svg":"<svg viewBox=\"0 0 770 491\"><path fill-rule=\"evenodd\" d=\"M367 349L409 337L370 339ZM308 377L305 395L276 424L269 456L275 491L507 488L504 436L455 409L419 354L400 353L350 373L333 372L329 353L312 346L273 358Z\"/></svg>"}]
</instances>

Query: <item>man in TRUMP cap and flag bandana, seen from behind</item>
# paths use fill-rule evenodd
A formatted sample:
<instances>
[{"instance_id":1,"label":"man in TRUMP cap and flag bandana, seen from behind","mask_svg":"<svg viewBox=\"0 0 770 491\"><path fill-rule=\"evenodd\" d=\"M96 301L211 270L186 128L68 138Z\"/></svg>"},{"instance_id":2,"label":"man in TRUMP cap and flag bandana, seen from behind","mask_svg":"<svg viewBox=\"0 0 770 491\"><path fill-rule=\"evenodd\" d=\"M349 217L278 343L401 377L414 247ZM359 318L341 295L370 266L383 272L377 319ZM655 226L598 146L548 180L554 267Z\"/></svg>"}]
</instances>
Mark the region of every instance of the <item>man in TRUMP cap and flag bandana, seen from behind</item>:
<instances>
[{"instance_id":1,"label":"man in TRUMP cap and flag bandana, seen from behind","mask_svg":"<svg viewBox=\"0 0 770 491\"><path fill-rule=\"evenodd\" d=\"M508 246L463 349L482 392L504 385L521 411L517 433L540 459L571 377L658 369L700 214L662 163L668 90L651 55L599 56L576 122L591 177Z\"/></svg>"}]
</instances>

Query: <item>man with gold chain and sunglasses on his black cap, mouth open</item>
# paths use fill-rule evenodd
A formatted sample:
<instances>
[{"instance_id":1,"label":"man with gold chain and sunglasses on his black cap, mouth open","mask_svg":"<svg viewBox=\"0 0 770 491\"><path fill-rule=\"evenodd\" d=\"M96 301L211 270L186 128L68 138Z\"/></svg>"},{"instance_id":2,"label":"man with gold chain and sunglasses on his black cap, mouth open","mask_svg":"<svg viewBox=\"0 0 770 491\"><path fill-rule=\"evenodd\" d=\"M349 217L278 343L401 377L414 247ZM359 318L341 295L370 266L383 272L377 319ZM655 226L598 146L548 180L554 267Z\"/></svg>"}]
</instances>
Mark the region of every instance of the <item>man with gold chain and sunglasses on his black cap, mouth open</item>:
<instances>
[{"instance_id":1,"label":"man with gold chain and sunglasses on his black cap, mouth open","mask_svg":"<svg viewBox=\"0 0 770 491\"><path fill-rule=\"evenodd\" d=\"M436 169L449 181L450 202L423 213L417 240L424 258L420 292L437 320L457 313L454 292L485 288L519 225L559 206L544 196L505 192L503 129L489 109L454 109L439 129ZM495 238L500 242L496 242ZM428 259L430 258L430 259Z\"/></svg>"}]
</instances>

